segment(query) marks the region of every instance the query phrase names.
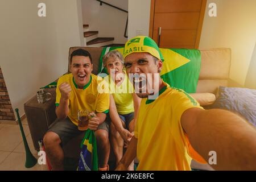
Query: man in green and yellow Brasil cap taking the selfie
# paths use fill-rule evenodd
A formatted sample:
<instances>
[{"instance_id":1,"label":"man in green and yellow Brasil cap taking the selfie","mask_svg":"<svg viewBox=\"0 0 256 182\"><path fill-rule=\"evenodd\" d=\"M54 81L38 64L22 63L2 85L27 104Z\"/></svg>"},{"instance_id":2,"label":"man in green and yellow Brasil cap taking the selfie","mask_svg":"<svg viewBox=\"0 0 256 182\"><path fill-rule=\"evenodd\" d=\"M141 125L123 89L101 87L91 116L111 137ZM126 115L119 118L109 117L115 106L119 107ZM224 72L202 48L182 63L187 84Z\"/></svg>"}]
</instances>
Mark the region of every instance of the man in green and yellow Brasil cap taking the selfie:
<instances>
[{"instance_id":1,"label":"man in green and yellow Brasil cap taking the selfie","mask_svg":"<svg viewBox=\"0 0 256 182\"><path fill-rule=\"evenodd\" d=\"M163 56L154 40L135 37L123 54L126 72L140 76L132 81L142 101L134 137L117 170L126 170L136 156L138 170L191 170L191 158L208 162L210 151L217 154L214 169L256 170L256 130L229 111L204 110L163 82Z\"/></svg>"}]
</instances>

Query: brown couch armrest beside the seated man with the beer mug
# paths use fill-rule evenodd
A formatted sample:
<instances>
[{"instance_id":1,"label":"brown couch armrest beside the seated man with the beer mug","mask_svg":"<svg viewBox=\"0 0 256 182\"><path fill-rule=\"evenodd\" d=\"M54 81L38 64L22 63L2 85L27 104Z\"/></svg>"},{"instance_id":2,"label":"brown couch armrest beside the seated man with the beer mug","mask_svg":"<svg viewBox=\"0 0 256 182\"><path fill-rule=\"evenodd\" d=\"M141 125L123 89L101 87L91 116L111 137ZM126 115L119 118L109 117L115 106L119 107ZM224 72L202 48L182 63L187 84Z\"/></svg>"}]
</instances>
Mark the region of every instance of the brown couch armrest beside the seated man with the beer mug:
<instances>
[{"instance_id":1,"label":"brown couch armrest beside the seated man with the beer mug","mask_svg":"<svg viewBox=\"0 0 256 182\"><path fill-rule=\"evenodd\" d=\"M44 104L39 104L36 96L32 97L24 104L24 111L27 117L28 127L30 129L31 138L34 144L35 150L39 151L38 141L43 139L44 134L49 129L49 126L55 121L55 98L56 88L46 89L51 93L51 100Z\"/></svg>"}]
</instances>

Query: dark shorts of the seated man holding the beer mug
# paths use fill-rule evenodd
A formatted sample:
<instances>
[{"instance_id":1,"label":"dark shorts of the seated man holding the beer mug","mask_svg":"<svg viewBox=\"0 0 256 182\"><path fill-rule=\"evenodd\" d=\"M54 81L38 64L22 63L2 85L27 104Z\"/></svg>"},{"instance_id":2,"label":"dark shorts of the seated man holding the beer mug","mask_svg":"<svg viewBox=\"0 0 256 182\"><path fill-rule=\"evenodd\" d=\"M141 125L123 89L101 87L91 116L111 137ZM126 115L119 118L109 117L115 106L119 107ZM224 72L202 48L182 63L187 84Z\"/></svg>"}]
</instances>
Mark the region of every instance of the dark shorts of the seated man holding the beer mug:
<instances>
[{"instance_id":1,"label":"dark shorts of the seated man holding the beer mug","mask_svg":"<svg viewBox=\"0 0 256 182\"><path fill-rule=\"evenodd\" d=\"M105 121L98 126L97 130L102 129L108 131L109 133L109 121L110 119L107 116ZM85 132L78 130L77 126L74 123L72 123L72 121L68 117L65 119L59 119L56 122L54 122L50 126L48 132L49 131L59 135L61 140L61 146L65 146L65 144L67 144L69 140Z\"/></svg>"}]
</instances>

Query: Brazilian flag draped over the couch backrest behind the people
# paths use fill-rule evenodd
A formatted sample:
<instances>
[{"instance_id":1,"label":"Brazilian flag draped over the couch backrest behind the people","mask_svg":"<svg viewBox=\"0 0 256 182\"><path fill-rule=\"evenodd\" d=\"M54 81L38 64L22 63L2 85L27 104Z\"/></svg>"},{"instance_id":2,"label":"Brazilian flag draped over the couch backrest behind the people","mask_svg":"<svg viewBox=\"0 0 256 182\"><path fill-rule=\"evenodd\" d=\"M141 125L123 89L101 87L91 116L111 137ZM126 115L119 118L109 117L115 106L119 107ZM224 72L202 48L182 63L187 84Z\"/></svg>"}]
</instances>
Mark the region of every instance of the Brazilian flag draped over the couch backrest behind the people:
<instances>
[{"instance_id":1,"label":"Brazilian flag draped over the couch backrest behind the people","mask_svg":"<svg viewBox=\"0 0 256 182\"><path fill-rule=\"evenodd\" d=\"M108 73L103 67L102 57L117 49L123 54L123 47L105 47L100 58L99 73ZM201 68L201 53L198 49L160 48L164 57L160 77L172 87L195 93Z\"/></svg>"}]
</instances>

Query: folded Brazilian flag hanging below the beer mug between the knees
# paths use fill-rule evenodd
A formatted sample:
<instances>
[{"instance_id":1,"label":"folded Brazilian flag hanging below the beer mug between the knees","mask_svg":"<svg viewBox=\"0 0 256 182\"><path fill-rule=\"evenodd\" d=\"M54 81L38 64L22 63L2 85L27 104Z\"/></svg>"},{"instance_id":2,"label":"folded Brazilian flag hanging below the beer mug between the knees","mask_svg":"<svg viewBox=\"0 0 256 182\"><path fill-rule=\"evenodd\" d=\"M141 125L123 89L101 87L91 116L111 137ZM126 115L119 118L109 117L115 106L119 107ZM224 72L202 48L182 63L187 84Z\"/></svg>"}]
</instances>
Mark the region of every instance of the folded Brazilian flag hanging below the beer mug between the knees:
<instances>
[{"instance_id":1,"label":"folded Brazilian flag hanging below the beer mug between the knees","mask_svg":"<svg viewBox=\"0 0 256 182\"><path fill-rule=\"evenodd\" d=\"M97 143L94 131L85 131L81 142L81 152L77 171L98 171Z\"/></svg>"}]
</instances>

